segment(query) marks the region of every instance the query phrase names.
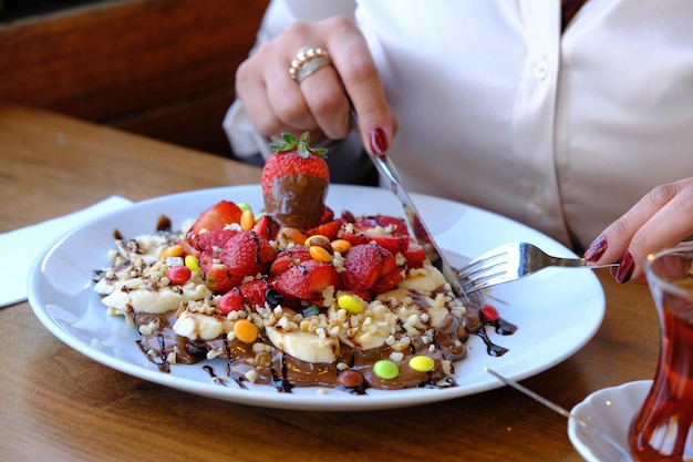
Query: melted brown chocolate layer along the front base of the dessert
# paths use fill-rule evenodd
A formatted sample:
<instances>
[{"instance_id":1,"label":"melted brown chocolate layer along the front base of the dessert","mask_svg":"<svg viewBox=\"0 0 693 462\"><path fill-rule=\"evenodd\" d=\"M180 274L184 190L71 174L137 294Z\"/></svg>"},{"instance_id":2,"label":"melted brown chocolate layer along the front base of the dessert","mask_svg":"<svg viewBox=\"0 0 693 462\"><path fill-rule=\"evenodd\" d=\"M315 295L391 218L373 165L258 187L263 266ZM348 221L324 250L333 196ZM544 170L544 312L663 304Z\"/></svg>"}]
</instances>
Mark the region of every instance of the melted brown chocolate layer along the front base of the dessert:
<instances>
[{"instance_id":1,"label":"melted brown chocolate layer along the front base of the dessert","mask_svg":"<svg viewBox=\"0 0 693 462\"><path fill-rule=\"evenodd\" d=\"M170 371L168 355L176 353L176 363L194 365L207 358L208 351L215 351L218 358L227 361L226 377L234 380L239 388L247 388L245 382L268 384L280 392L291 392L294 387L329 387L345 390L354 394L364 394L368 389L400 390L404 388L448 388L455 387L455 380L449 377L454 372L454 362L467 356L465 342L468 333L462 321L448 315L443 322L432 329L433 341L425 341L422 337L414 337L408 350L402 351L402 358L394 361L400 376L395 379L381 379L373 371L373 365L380 359L392 360L392 349L387 346L361 350L342 345L340 356L331 363L313 363L293 358L276 348L266 336L261 335L257 341L266 346L265 351L258 352L252 345L239 340L219 338L209 341L194 341L176 336L173 324L176 312L163 315L134 315L136 326L152 325L158 320L159 328L145 333L138 341L139 348L146 357L155 363L162 372ZM484 339L492 356L501 356L507 351L488 340L484 329L474 333ZM425 352L434 360L434 368L430 372L418 372L408 367L408 360L416 353ZM353 387L342 384L338 376L342 373L338 365L346 365L352 373L359 373L363 380ZM217 376L208 365L203 366L210 378L226 386L224 377ZM252 379L249 376L252 374Z\"/></svg>"}]
</instances>

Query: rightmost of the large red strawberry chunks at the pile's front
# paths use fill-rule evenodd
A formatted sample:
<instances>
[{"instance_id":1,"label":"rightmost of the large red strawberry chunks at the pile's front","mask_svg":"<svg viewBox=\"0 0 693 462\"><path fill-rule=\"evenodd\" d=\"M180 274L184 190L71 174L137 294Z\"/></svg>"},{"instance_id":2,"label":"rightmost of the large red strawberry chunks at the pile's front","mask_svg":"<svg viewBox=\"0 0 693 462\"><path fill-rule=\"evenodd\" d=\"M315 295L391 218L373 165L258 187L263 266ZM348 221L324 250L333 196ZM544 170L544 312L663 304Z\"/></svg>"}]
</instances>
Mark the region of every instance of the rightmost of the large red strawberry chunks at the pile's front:
<instances>
[{"instance_id":1,"label":"rightmost of the large red strawberry chunks at the pile's front","mask_svg":"<svg viewBox=\"0 0 693 462\"><path fill-rule=\"evenodd\" d=\"M375 243L361 244L350 248L346 253L342 285L346 290L373 291L374 286L379 287L376 284L381 278L399 269L390 250Z\"/></svg>"}]
</instances>

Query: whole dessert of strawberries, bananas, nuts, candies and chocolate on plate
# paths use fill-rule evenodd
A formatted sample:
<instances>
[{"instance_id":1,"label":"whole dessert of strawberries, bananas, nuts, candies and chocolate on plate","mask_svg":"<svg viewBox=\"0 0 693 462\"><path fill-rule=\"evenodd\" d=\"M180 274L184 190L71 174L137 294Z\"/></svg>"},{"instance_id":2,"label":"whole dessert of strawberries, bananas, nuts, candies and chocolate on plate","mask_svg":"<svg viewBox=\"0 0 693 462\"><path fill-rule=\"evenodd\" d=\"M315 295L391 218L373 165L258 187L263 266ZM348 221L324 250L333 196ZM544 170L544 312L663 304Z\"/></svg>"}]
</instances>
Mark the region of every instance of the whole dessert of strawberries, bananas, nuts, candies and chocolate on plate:
<instances>
[{"instance_id":1,"label":"whole dessert of strawberries, bananas, nuts, candies and chocolate on plate","mask_svg":"<svg viewBox=\"0 0 693 462\"><path fill-rule=\"evenodd\" d=\"M263 171L265 214L220 201L179 232L162 217L152 235L115 234L94 289L159 370L201 363L223 386L365 393L455 386L470 333L507 351L486 325L515 326L456 299L403 219L335 217L324 160L307 136L283 141L270 161L287 157Z\"/></svg>"}]
</instances>

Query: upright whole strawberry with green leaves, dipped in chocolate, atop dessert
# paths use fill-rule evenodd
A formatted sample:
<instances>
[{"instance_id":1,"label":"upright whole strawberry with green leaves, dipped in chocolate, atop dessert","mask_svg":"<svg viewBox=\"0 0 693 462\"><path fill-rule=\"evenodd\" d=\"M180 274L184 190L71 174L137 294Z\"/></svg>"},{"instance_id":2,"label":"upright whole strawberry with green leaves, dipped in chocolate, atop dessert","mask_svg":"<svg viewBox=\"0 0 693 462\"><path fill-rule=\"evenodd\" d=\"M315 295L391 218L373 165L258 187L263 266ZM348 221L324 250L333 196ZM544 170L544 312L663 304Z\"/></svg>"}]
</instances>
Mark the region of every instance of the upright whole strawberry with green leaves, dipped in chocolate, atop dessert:
<instances>
[{"instance_id":1,"label":"upright whole strawberry with green leaves, dipped in chocolate, atop dessert","mask_svg":"<svg viewBox=\"0 0 693 462\"><path fill-rule=\"evenodd\" d=\"M282 224L306 230L317 226L325 205L330 172L324 148L309 145L310 135L299 140L282 133L273 140L273 154L262 170L265 208Z\"/></svg>"}]
</instances>

